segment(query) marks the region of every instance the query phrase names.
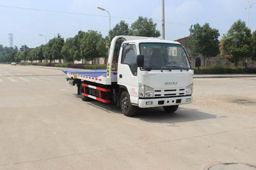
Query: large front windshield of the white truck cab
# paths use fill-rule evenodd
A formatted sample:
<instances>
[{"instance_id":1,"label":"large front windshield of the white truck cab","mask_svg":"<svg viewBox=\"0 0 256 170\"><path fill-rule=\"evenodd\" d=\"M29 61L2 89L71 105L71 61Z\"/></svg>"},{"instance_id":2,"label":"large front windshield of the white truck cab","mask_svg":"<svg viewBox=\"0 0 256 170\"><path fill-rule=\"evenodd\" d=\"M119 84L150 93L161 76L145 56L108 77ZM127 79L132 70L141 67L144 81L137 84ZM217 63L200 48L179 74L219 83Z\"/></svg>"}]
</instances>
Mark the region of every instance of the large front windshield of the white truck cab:
<instances>
[{"instance_id":1,"label":"large front windshield of the white truck cab","mask_svg":"<svg viewBox=\"0 0 256 170\"><path fill-rule=\"evenodd\" d=\"M189 61L181 45L170 43L140 43L144 67L150 69L189 69Z\"/></svg>"}]
</instances>

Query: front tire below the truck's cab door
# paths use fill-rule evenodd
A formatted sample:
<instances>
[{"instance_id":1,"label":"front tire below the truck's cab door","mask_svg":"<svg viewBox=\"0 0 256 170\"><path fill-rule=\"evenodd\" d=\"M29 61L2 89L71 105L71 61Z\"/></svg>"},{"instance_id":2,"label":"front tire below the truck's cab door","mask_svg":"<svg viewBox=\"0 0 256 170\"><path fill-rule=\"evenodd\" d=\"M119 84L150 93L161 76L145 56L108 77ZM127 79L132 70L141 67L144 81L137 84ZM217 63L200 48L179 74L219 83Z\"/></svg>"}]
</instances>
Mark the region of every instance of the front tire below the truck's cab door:
<instances>
[{"instance_id":1,"label":"front tire below the truck's cab door","mask_svg":"<svg viewBox=\"0 0 256 170\"><path fill-rule=\"evenodd\" d=\"M127 91L123 91L121 94L120 107L125 116L132 117L135 115L136 106L132 106L130 96Z\"/></svg>"}]
</instances>

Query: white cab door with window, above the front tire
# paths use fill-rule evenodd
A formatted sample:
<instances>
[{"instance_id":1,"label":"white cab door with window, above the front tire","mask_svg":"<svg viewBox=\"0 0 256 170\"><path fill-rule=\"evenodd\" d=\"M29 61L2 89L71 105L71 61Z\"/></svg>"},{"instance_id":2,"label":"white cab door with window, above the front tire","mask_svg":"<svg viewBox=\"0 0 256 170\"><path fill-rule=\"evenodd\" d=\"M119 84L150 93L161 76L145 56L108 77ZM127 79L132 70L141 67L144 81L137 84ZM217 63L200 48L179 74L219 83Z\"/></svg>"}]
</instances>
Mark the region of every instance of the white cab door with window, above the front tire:
<instances>
[{"instance_id":1,"label":"white cab door with window, above the front tire","mask_svg":"<svg viewBox=\"0 0 256 170\"><path fill-rule=\"evenodd\" d=\"M138 50L135 43L125 43L118 60L118 85L124 85L130 95L131 103L138 104Z\"/></svg>"}]
</instances>

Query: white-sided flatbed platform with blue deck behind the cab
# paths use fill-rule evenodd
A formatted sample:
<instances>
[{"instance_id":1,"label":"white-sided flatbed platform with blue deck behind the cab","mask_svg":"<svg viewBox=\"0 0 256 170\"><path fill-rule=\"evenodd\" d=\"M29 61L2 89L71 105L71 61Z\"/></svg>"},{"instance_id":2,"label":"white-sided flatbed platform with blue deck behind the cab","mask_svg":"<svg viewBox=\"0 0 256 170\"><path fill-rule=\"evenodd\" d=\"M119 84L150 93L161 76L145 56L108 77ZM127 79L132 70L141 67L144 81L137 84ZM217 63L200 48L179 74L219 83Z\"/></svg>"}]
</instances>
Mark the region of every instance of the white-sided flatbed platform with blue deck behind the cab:
<instances>
[{"instance_id":1,"label":"white-sided flatbed platform with blue deck behind the cab","mask_svg":"<svg viewBox=\"0 0 256 170\"><path fill-rule=\"evenodd\" d=\"M106 69L95 69L93 71L79 71L79 70L62 70L67 74L67 78L77 78L85 81L92 81L104 85L111 85L112 82L117 82L117 74L111 71L111 78L107 76Z\"/></svg>"}]
</instances>

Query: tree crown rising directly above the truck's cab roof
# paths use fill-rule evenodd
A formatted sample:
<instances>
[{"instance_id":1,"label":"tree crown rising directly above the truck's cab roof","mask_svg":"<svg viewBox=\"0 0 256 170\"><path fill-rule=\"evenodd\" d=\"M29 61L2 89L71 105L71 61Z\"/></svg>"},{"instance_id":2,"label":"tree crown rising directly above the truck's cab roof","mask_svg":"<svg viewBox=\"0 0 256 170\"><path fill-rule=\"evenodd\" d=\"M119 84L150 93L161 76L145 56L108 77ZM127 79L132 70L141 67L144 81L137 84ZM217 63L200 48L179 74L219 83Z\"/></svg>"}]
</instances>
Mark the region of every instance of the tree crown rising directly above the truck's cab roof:
<instances>
[{"instance_id":1,"label":"tree crown rising directly above the truck's cab roof","mask_svg":"<svg viewBox=\"0 0 256 170\"><path fill-rule=\"evenodd\" d=\"M160 31L156 30L157 24L153 22L152 18L139 17L134 23L132 23L129 29L129 35L131 36L147 36L147 37L159 37Z\"/></svg>"}]
</instances>

